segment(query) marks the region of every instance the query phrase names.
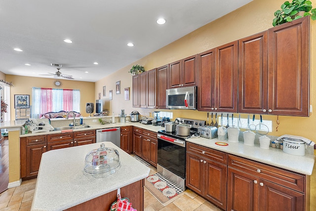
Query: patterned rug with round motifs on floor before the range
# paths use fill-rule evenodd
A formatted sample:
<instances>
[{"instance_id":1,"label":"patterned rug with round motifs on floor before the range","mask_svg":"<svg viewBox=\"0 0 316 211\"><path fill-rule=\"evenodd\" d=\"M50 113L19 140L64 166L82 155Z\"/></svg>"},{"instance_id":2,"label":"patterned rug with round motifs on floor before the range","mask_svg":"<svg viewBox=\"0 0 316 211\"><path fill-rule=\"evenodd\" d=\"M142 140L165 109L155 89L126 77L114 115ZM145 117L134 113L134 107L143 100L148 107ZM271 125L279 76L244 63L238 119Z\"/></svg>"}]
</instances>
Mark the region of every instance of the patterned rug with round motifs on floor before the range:
<instances>
[{"instance_id":1,"label":"patterned rug with round motifs on floor before the range","mask_svg":"<svg viewBox=\"0 0 316 211\"><path fill-rule=\"evenodd\" d=\"M148 176L145 179L145 186L161 203L165 203L183 192L181 188L158 173Z\"/></svg>"}]
</instances>

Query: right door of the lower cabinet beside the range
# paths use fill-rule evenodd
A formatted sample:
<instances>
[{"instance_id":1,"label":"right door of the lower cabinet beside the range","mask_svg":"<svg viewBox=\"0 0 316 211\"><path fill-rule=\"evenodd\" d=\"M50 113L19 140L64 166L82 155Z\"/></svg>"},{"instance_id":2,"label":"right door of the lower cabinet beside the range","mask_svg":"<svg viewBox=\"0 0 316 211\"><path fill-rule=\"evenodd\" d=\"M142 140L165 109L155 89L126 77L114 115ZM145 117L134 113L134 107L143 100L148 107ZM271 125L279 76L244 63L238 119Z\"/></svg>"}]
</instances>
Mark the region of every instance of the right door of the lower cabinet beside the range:
<instances>
[{"instance_id":1,"label":"right door of the lower cabinet beside the range","mask_svg":"<svg viewBox=\"0 0 316 211\"><path fill-rule=\"evenodd\" d=\"M204 197L210 202L226 209L227 166L203 158Z\"/></svg>"}]
</instances>

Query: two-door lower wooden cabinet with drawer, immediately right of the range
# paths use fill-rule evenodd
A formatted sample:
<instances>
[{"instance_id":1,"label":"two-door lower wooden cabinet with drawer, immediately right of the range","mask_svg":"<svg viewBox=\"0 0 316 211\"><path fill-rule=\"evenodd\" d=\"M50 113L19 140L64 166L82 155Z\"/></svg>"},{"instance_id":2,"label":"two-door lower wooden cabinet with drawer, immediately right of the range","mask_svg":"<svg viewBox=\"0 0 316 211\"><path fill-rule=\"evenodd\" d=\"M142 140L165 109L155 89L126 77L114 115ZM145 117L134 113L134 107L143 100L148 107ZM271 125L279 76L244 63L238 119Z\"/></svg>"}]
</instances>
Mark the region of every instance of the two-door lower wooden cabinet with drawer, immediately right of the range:
<instances>
[{"instance_id":1,"label":"two-door lower wooden cabinet with drawer, immediately right of the range","mask_svg":"<svg viewBox=\"0 0 316 211\"><path fill-rule=\"evenodd\" d=\"M187 142L186 186L226 209L227 154ZM217 157L223 163L215 162Z\"/></svg>"}]
</instances>

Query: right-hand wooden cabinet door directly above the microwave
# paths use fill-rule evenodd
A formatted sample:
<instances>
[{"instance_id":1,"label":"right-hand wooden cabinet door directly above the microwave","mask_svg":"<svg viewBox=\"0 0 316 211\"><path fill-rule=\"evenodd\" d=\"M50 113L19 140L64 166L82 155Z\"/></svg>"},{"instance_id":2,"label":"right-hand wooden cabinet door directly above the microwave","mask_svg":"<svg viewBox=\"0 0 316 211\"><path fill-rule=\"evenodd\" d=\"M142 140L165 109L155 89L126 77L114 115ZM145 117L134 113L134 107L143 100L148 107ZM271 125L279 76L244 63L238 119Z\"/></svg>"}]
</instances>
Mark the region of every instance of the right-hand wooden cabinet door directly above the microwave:
<instances>
[{"instance_id":1,"label":"right-hand wooden cabinet door directly above the microwave","mask_svg":"<svg viewBox=\"0 0 316 211\"><path fill-rule=\"evenodd\" d=\"M182 84L183 86L197 85L197 55L182 59Z\"/></svg>"}]
</instances>

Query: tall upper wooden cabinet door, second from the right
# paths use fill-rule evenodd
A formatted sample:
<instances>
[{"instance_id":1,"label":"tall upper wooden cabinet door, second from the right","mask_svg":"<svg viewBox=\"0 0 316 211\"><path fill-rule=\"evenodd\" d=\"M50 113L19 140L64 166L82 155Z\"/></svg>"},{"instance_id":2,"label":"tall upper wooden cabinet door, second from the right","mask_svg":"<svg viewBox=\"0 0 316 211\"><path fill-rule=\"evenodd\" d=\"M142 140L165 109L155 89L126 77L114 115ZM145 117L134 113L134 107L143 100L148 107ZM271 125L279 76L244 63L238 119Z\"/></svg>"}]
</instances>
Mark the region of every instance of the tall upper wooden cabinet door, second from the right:
<instances>
[{"instance_id":1,"label":"tall upper wooden cabinet door, second from the right","mask_svg":"<svg viewBox=\"0 0 316 211\"><path fill-rule=\"evenodd\" d=\"M238 41L238 113L267 114L268 31Z\"/></svg>"}]
</instances>

